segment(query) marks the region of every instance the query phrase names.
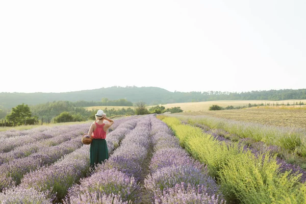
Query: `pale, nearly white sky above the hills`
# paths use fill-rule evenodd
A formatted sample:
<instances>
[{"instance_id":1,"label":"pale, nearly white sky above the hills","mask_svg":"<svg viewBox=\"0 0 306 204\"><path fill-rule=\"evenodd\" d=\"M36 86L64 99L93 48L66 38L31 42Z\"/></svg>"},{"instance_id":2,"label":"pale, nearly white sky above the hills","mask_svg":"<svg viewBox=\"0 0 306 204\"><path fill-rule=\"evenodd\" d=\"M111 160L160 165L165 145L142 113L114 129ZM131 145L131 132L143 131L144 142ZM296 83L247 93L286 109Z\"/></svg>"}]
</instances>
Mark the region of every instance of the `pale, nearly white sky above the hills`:
<instances>
[{"instance_id":1,"label":"pale, nearly white sky above the hills","mask_svg":"<svg viewBox=\"0 0 306 204\"><path fill-rule=\"evenodd\" d=\"M306 88L306 1L0 1L0 92Z\"/></svg>"}]
</instances>

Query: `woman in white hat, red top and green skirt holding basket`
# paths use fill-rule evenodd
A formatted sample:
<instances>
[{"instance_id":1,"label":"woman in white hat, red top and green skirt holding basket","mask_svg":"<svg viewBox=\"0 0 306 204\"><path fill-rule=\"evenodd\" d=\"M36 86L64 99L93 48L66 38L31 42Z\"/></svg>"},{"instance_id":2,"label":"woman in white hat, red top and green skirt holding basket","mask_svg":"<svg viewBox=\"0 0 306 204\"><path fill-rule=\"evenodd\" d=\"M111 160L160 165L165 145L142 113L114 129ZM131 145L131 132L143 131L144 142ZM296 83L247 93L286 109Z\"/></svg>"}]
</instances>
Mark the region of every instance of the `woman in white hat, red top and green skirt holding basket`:
<instances>
[{"instance_id":1,"label":"woman in white hat, red top and green skirt holding basket","mask_svg":"<svg viewBox=\"0 0 306 204\"><path fill-rule=\"evenodd\" d=\"M95 165L102 164L108 159L108 148L106 143L106 132L114 123L114 120L106 117L102 110L98 110L95 115L96 120L91 124L88 135L92 135L92 143L90 144L90 166L95 169ZM103 120L109 121L104 123Z\"/></svg>"}]
</instances>

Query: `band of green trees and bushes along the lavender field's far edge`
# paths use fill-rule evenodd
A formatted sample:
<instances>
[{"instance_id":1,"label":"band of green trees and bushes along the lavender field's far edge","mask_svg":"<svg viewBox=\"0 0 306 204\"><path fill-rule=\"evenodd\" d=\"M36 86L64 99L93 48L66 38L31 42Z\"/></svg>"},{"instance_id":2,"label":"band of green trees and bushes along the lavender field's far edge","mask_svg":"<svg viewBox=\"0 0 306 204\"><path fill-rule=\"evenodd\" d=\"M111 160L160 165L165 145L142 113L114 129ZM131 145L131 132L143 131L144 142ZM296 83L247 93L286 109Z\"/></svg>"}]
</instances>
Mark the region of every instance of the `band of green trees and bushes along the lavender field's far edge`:
<instances>
[{"instance_id":1,"label":"band of green trees and bushes along the lavender field's far edge","mask_svg":"<svg viewBox=\"0 0 306 204\"><path fill-rule=\"evenodd\" d=\"M70 121L87 121L95 120L97 109L86 110L83 107L75 107L75 103L70 101L54 101L37 106L28 106L26 104L18 105L12 108L11 112L0 121L0 126L18 126L30 125L43 122L70 122ZM150 113L179 113L183 112L180 107L165 109L164 106L151 107L149 110L143 101L136 103L135 108L127 107L121 109L105 108L104 112L108 117L113 116L131 116L144 115Z\"/></svg>"}]
</instances>

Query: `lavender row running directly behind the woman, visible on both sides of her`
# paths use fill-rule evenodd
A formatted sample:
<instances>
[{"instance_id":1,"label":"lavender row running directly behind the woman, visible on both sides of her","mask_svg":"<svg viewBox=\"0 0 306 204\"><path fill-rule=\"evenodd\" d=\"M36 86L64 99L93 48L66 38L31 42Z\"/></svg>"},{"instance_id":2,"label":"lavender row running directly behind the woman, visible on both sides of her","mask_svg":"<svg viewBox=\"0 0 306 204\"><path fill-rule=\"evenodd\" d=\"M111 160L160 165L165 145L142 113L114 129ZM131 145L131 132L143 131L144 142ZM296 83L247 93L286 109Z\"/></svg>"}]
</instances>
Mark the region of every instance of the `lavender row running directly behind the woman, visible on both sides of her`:
<instances>
[{"instance_id":1,"label":"lavender row running directly behind the woman, visible on both sides of her","mask_svg":"<svg viewBox=\"0 0 306 204\"><path fill-rule=\"evenodd\" d=\"M118 143L124 138L124 135L134 129L136 123L136 120L130 120L120 124L107 135L107 140ZM83 145L53 165L28 173L23 177L19 187L33 188L38 192L43 192L50 199L64 198L68 188L78 182L81 177L89 174L89 148L90 145ZM113 151L114 149L109 150Z\"/></svg>"}]
</instances>

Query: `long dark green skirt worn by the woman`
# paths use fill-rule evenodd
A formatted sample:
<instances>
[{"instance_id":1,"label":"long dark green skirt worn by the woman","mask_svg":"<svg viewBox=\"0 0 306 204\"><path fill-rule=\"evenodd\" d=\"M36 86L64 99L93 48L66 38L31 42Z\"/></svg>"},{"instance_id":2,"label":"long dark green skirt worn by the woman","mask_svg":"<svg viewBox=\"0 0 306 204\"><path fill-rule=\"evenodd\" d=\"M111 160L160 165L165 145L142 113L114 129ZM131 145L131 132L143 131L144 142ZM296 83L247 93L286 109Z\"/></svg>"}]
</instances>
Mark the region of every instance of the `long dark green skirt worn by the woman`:
<instances>
[{"instance_id":1,"label":"long dark green skirt worn by the woman","mask_svg":"<svg viewBox=\"0 0 306 204\"><path fill-rule=\"evenodd\" d=\"M93 139L90 144L90 166L94 169L95 165L102 164L109 157L105 139Z\"/></svg>"}]
</instances>

